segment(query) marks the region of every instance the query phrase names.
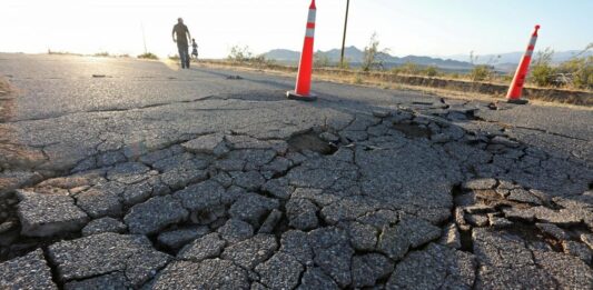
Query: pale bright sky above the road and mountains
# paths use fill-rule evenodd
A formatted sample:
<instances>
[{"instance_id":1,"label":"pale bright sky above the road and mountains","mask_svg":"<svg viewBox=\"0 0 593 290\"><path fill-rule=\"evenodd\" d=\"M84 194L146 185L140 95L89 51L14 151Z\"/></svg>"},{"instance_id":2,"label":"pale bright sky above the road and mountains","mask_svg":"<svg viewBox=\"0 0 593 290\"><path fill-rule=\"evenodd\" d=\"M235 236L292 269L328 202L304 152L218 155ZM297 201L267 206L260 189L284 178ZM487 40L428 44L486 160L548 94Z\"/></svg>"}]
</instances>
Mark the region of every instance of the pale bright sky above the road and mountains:
<instances>
[{"instance_id":1,"label":"pale bright sky above the road and mountains","mask_svg":"<svg viewBox=\"0 0 593 290\"><path fill-rule=\"evenodd\" d=\"M178 17L200 57L234 46L254 53L299 50L310 0L1 0L0 51L175 54ZM316 50L342 46L346 0L317 0ZM394 56L522 51L541 24L537 49L577 50L593 42L593 0L350 0L346 46L376 32ZM144 28L144 37L142 37Z\"/></svg>"}]
</instances>

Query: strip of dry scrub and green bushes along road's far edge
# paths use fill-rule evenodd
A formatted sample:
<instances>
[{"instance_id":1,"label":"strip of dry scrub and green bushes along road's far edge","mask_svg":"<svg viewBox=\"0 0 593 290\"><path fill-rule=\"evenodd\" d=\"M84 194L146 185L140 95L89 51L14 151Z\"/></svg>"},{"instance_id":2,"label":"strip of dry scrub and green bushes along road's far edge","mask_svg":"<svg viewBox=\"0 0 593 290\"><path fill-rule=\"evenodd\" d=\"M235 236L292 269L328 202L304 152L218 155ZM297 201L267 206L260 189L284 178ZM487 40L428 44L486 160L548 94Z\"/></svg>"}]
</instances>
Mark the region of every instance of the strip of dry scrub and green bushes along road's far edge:
<instances>
[{"instance_id":1,"label":"strip of dry scrub and green bushes along road's far edge","mask_svg":"<svg viewBox=\"0 0 593 290\"><path fill-rule=\"evenodd\" d=\"M532 61L527 86L593 91L593 57L587 54L590 50L593 50L593 43L562 63L552 62L554 51L551 49L537 52ZM388 53L388 50L380 47L377 34L373 33L368 44L365 47L363 62L357 63L356 67L352 66L349 60L345 60L344 64L340 66L340 63L332 61L322 52L314 54L314 67L316 70L324 70L324 72L334 76L339 74L339 71L354 72L355 77L352 77L350 81L355 84L365 83L365 80L369 80L370 78L368 74L376 72L387 76L427 77L504 86L507 86L514 77L514 71L501 72L495 69L500 64L500 56L484 61L472 51L470 53L470 62L473 64L471 70L447 71L435 66L418 66L413 62L387 69L384 63L385 53ZM297 69L296 63L290 66L276 63L274 60L266 59L265 56L254 54L249 47L241 46L231 47L227 59L223 62L230 66L280 71L293 71Z\"/></svg>"}]
</instances>

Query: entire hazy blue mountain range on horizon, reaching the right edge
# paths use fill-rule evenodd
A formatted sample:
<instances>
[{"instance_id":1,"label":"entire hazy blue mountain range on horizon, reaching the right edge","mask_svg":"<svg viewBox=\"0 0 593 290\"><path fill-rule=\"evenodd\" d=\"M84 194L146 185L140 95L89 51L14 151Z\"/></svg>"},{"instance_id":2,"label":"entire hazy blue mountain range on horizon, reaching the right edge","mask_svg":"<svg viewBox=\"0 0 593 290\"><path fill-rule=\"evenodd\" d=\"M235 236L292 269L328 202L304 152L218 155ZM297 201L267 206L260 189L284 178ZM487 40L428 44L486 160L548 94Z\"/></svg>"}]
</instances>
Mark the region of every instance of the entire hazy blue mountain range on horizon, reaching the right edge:
<instances>
[{"instance_id":1,"label":"entire hazy blue mountain range on horizon, reaching the right edge","mask_svg":"<svg viewBox=\"0 0 593 290\"><path fill-rule=\"evenodd\" d=\"M560 63L566 61L577 53L580 50L569 50L569 51L559 51L554 52L552 61L554 63ZM322 56L327 57L330 62L339 62L339 57L342 50L333 49L328 51L317 51ZM363 62L364 51L356 47L348 47L345 50L345 59L348 60L352 67L357 67ZM295 64L300 58L300 52L286 50L286 49L275 49L269 52L264 53L268 59L276 60L283 63ZM584 56L593 56L593 51L587 51ZM403 58L394 57L387 53L380 53L379 56L386 68L393 68L402 66L406 62L413 62L421 67L435 66L443 70L449 71L468 71L474 66L470 62L470 54L455 54L447 57L417 57L417 56L407 56ZM516 69L517 63L523 57L523 52L508 52L500 54L485 54L477 56L475 61L476 64L491 64L496 68L496 70L502 72L511 72Z\"/></svg>"}]
</instances>

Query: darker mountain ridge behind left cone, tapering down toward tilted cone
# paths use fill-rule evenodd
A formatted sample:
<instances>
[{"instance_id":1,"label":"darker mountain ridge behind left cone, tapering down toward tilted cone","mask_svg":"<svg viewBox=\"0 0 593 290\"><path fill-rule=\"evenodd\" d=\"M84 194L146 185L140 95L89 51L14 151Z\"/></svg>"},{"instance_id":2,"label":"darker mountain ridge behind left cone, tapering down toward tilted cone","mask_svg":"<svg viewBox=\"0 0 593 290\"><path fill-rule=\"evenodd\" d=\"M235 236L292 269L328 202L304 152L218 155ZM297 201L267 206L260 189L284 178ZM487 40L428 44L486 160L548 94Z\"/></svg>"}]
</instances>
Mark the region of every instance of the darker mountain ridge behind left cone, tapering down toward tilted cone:
<instances>
[{"instance_id":1,"label":"darker mountain ridge behind left cone, tapering down toward tilted cone","mask_svg":"<svg viewBox=\"0 0 593 290\"><path fill-rule=\"evenodd\" d=\"M339 62L342 50L333 49L328 51L317 51L316 53L327 57L327 59L330 62L337 63ZM264 56L267 59L273 59L273 60L284 62L284 63L297 63L300 58L300 52L293 51L293 50L286 50L286 49L275 49L275 50L264 53ZM383 59L384 66L386 68L402 66L407 62L413 62L421 67L435 66L444 70L455 70L455 71L471 70L473 67L472 63L467 61L458 61L458 60L452 60L452 59L445 60L445 59L439 59L439 58L416 57L416 56L407 56L404 58L398 58L398 57L394 57L387 53L379 53L378 57ZM350 66L357 67L363 62L364 51L356 47L348 47L346 48L344 52L344 58L348 60L348 63Z\"/></svg>"}]
</instances>

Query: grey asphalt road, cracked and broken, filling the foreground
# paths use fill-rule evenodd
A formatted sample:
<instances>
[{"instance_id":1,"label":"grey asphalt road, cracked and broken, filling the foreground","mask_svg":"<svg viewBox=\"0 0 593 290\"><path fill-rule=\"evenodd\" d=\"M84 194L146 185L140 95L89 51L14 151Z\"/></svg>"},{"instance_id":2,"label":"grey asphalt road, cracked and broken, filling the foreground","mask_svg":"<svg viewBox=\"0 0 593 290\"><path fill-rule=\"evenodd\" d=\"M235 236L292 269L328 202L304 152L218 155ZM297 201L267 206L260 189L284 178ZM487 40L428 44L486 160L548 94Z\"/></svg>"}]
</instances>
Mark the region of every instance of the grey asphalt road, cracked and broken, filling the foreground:
<instances>
[{"instance_id":1,"label":"grey asphalt road, cracked and broken, filling the foreground","mask_svg":"<svg viewBox=\"0 0 593 290\"><path fill-rule=\"evenodd\" d=\"M2 74L0 288L593 288L591 109L302 103L290 78L132 59Z\"/></svg>"}]
</instances>

